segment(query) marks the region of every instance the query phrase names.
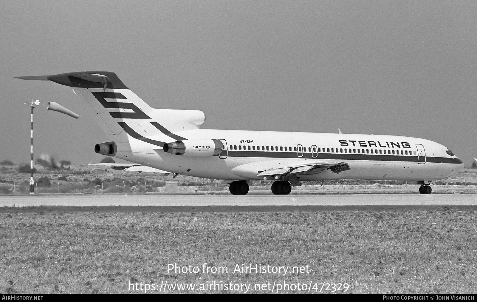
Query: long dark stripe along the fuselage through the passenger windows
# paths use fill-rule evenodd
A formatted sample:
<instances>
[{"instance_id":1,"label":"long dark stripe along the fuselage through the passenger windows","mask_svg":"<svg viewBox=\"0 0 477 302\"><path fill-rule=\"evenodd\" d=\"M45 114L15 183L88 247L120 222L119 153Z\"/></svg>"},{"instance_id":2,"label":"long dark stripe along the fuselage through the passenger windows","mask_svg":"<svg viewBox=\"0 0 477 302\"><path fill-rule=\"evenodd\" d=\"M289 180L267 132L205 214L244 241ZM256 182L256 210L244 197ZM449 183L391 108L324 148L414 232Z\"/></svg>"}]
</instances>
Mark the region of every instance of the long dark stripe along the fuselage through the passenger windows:
<instances>
[{"instance_id":1,"label":"long dark stripe along the fuselage through the passenger windows","mask_svg":"<svg viewBox=\"0 0 477 302\"><path fill-rule=\"evenodd\" d=\"M300 153L301 154L301 153ZM316 154L316 153L315 153ZM346 153L317 153L317 157L312 157L311 153L303 153L298 157L297 152L276 152L276 151L236 151L229 150L227 156L230 157L270 157L270 158L303 158L315 160L353 160L353 161L385 161L385 162L417 162L417 155L377 155L377 154L346 154ZM424 162L424 157L422 161ZM458 158L430 157L427 156L426 162L439 163L462 163Z\"/></svg>"}]
</instances>

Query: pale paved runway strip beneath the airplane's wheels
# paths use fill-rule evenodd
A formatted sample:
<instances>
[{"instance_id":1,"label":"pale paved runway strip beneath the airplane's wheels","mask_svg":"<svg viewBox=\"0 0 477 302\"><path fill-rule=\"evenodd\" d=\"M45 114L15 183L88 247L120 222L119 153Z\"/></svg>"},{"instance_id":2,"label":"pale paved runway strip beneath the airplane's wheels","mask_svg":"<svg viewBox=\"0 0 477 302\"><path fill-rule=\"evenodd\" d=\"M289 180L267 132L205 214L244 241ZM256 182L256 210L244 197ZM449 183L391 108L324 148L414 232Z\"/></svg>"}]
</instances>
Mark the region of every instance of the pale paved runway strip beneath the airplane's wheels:
<instances>
[{"instance_id":1,"label":"pale paved runway strip beneath the airplane's wheels","mask_svg":"<svg viewBox=\"0 0 477 302\"><path fill-rule=\"evenodd\" d=\"M477 194L320 195L20 195L0 196L0 207L152 207L176 211L321 211L475 208ZM151 210L152 210L151 208ZM86 209L84 209L86 210Z\"/></svg>"}]
</instances>

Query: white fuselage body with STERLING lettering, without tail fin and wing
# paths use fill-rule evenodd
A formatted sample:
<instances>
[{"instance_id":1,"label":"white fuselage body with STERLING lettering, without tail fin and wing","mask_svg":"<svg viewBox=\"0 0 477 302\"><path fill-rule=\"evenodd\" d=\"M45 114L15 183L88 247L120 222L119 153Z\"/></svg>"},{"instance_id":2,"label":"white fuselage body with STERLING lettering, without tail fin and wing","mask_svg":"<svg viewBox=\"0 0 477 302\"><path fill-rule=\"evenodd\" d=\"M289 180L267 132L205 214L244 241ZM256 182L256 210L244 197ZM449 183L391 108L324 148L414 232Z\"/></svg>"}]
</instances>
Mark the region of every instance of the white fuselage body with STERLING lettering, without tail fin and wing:
<instances>
[{"instance_id":1,"label":"white fuselage body with STERLING lettering, without tail fin and wing","mask_svg":"<svg viewBox=\"0 0 477 302\"><path fill-rule=\"evenodd\" d=\"M188 157L166 153L158 145L131 139L132 152L118 150L115 157L172 173L227 180L263 180L257 176L260 170L317 161L346 162L350 170L340 173L326 170L301 175L300 180L439 180L463 168L462 161L447 154L445 146L404 136L218 129L175 134L187 140L222 140L227 150L220 156ZM150 139L172 141L166 135Z\"/></svg>"}]
</instances>

